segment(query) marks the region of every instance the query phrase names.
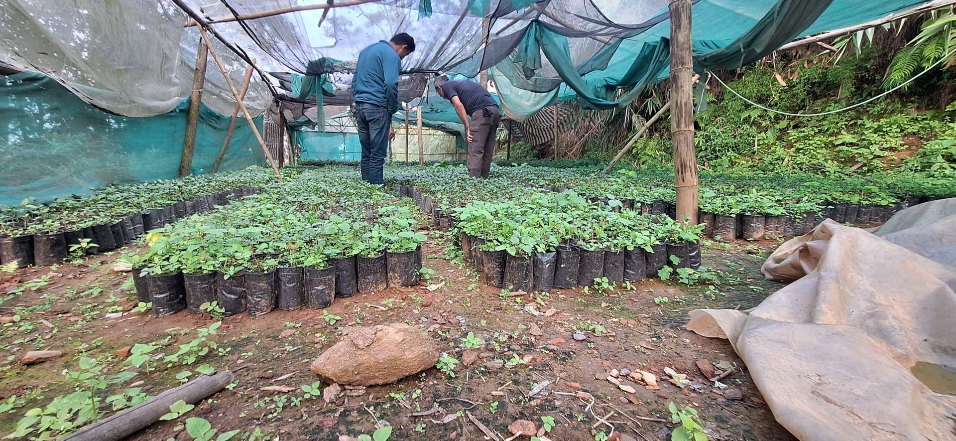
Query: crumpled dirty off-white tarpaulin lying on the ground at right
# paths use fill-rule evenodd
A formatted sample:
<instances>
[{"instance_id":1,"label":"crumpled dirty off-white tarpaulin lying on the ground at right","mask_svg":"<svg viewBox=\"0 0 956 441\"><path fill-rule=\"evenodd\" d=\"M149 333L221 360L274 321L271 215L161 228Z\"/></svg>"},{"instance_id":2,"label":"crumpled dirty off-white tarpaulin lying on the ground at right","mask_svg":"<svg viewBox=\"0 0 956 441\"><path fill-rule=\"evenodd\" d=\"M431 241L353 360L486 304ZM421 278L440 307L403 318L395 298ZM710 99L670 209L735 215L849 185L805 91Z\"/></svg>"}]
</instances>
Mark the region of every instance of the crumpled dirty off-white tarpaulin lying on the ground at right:
<instances>
[{"instance_id":1,"label":"crumpled dirty off-white tarpaulin lying on the ground at right","mask_svg":"<svg viewBox=\"0 0 956 441\"><path fill-rule=\"evenodd\" d=\"M729 339L781 425L805 440L956 439L956 396L911 373L956 366L956 199L871 232L827 220L762 271L795 281L749 311L692 311L687 327Z\"/></svg>"}]
</instances>

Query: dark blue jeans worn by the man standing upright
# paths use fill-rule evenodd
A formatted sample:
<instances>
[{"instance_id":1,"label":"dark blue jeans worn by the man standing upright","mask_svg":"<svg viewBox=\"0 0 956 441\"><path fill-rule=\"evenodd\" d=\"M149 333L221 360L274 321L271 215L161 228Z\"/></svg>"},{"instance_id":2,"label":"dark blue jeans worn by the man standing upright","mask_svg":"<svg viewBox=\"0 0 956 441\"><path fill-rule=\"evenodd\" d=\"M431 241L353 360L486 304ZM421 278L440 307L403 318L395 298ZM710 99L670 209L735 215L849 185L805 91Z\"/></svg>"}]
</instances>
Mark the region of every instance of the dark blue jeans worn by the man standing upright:
<instances>
[{"instance_id":1,"label":"dark blue jeans worn by the man standing upright","mask_svg":"<svg viewBox=\"0 0 956 441\"><path fill-rule=\"evenodd\" d=\"M388 156L388 133L392 116L381 106L367 102L356 103L356 121L359 123L361 143L361 180L369 184L384 184L382 169Z\"/></svg>"}]
</instances>

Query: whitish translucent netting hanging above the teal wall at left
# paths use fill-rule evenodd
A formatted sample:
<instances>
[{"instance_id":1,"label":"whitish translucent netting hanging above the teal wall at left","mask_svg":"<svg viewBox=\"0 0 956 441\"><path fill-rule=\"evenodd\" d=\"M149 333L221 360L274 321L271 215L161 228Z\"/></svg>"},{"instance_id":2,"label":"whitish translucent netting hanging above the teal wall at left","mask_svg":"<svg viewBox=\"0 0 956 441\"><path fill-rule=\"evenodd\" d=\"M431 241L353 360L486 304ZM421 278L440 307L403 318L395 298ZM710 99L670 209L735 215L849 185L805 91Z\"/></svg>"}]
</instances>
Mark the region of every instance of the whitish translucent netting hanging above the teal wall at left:
<instances>
[{"instance_id":1,"label":"whitish translucent netting hanging above the teal wall at left","mask_svg":"<svg viewBox=\"0 0 956 441\"><path fill-rule=\"evenodd\" d=\"M200 34L185 28L188 20L169 0L0 0L0 62L35 71L84 101L127 117L173 111L192 91ZM217 25L250 55L261 55L238 25ZM213 39L236 88L245 61ZM257 116L272 96L253 77L245 102ZM231 115L235 100L211 56L206 68L203 103Z\"/></svg>"}]
</instances>

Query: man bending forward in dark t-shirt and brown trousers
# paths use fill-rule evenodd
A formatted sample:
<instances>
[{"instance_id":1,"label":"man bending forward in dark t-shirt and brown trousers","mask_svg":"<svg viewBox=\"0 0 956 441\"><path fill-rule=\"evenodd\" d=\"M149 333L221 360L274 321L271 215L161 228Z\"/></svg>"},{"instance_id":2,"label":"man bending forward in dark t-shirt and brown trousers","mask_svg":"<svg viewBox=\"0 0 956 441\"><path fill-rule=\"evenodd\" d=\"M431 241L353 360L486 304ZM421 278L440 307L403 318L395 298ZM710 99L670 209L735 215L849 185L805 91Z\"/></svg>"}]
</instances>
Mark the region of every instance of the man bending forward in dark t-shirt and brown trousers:
<instances>
[{"instance_id":1,"label":"man bending forward in dark t-shirt and brown trousers","mask_svg":"<svg viewBox=\"0 0 956 441\"><path fill-rule=\"evenodd\" d=\"M435 91L451 101L458 118L465 123L468 142L468 176L487 178L494 156L495 132L501 123L498 103L481 84L474 81L435 78ZM468 121L468 116L471 121Z\"/></svg>"}]
</instances>

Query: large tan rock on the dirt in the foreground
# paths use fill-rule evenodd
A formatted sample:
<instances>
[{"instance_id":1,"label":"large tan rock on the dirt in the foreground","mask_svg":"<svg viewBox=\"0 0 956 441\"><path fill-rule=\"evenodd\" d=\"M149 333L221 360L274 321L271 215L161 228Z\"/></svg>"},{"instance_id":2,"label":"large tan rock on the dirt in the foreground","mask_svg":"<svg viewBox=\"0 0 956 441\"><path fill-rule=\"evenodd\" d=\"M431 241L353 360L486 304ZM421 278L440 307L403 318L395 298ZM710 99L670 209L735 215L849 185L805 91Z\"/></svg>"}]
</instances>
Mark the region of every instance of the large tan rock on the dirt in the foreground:
<instances>
[{"instance_id":1,"label":"large tan rock on the dirt in the foreground","mask_svg":"<svg viewBox=\"0 0 956 441\"><path fill-rule=\"evenodd\" d=\"M312 363L316 375L341 385L387 385L438 363L438 344L404 323L346 328L343 334Z\"/></svg>"}]
</instances>

